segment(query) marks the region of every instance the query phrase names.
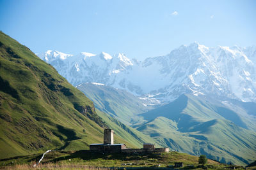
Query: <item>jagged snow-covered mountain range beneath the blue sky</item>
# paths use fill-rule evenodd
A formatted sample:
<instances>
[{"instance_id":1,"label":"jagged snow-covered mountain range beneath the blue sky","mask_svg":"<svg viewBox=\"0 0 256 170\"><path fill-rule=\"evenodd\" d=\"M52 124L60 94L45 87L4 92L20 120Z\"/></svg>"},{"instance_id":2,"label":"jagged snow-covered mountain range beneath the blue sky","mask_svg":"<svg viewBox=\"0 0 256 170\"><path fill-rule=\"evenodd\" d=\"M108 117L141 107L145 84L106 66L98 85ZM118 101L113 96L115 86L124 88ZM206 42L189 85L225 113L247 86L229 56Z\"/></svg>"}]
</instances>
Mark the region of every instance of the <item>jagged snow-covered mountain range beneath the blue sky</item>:
<instances>
[{"instance_id":1,"label":"jagged snow-covered mountain range beneath the blue sky","mask_svg":"<svg viewBox=\"0 0 256 170\"><path fill-rule=\"evenodd\" d=\"M183 93L256 101L256 46L209 48L192 43L141 62L123 53L47 51L38 56L74 86L103 83L155 103L173 101Z\"/></svg>"}]
</instances>

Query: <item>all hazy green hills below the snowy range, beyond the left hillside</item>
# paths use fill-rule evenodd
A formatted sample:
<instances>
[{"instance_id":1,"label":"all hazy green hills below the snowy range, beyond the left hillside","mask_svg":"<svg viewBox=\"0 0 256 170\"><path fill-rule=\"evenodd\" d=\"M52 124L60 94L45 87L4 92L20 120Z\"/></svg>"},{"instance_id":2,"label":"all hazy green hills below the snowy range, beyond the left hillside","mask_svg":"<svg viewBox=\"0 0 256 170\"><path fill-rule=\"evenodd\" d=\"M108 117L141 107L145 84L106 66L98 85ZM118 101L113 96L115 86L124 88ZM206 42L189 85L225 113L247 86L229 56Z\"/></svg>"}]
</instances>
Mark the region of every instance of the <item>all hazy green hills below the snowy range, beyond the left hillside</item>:
<instances>
[{"instance_id":1,"label":"all hazy green hills below the snowy range, beyond the left hillside","mask_svg":"<svg viewBox=\"0 0 256 170\"><path fill-rule=\"evenodd\" d=\"M155 139L161 146L225 163L256 159L255 103L182 94L163 106L99 83L77 86L95 107ZM147 111L148 110L148 111Z\"/></svg>"}]
</instances>

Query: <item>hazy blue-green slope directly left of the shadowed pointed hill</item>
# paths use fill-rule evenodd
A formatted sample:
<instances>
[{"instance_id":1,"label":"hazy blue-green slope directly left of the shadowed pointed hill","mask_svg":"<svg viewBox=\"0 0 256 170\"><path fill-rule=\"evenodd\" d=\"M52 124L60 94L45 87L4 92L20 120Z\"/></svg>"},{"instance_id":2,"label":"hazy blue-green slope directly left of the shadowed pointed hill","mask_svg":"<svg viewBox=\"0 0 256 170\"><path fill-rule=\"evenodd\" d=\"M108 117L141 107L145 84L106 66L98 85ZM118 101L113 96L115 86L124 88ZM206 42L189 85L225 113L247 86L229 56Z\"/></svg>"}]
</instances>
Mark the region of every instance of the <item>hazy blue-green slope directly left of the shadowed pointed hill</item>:
<instances>
[{"instance_id":1,"label":"hazy blue-green slope directly left of the shadowed pointed hill","mask_svg":"<svg viewBox=\"0 0 256 170\"><path fill-rule=\"evenodd\" d=\"M143 106L145 101L125 90L93 83L83 83L77 86L77 89L88 96L100 111L108 113L127 125L143 121L136 115L152 109L151 106Z\"/></svg>"}]
</instances>

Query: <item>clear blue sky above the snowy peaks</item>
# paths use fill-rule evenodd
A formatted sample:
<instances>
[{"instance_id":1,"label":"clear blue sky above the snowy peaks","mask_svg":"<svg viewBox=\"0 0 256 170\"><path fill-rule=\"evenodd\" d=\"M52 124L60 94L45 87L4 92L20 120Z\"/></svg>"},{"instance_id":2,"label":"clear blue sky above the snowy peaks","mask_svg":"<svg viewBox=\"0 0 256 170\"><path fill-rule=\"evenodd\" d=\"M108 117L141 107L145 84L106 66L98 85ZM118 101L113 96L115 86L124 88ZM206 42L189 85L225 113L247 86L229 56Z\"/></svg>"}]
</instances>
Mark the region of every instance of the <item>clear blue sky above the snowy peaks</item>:
<instances>
[{"instance_id":1,"label":"clear blue sky above the snowy peaks","mask_svg":"<svg viewBox=\"0 0 256 170\"><path fill-rule=\"evenodd\" d=\"M256 45L256 1L0 0L0 30L33 52L145 59L194 41Z\"/></svg>"}]
</instances>

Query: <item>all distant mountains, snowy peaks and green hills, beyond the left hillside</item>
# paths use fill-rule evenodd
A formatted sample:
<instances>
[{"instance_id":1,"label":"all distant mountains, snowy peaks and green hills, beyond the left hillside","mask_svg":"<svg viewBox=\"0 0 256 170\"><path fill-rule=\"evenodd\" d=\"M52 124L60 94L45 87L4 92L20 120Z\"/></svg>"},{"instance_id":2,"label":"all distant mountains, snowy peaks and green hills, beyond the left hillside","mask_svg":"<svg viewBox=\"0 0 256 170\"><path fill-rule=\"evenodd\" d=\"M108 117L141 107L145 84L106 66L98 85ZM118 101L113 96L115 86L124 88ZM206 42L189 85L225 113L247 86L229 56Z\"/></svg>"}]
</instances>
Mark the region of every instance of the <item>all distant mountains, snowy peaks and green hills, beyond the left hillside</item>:
<instances>
[{"instance_id":1,"label":"all distant mountains, snowy peaks and green hills, beyond the left hillside","mask_svg":"<svg viewBox=\"0 0 256 170\"><path fill-rule=\"evenodd\" d=\"M192 43L143 61L104 52L38 56L97 109L158 145L225 163L256 159L256 46Z\"/></svg>"}]
</instances>

